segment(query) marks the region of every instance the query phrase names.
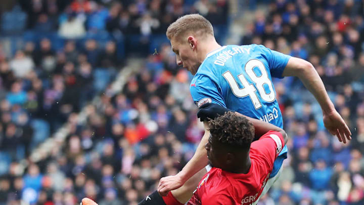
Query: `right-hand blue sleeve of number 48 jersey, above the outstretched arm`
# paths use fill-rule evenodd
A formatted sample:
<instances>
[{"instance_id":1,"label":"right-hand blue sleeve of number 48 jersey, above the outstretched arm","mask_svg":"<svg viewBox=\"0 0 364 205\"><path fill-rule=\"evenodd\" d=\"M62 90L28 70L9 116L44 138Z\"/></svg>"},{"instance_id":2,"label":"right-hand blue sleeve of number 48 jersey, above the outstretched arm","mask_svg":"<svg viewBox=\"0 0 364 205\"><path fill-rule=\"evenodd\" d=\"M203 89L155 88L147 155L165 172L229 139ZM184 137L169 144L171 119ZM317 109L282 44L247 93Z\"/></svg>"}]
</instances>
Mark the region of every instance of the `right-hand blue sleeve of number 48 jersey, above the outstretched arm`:
<instances>
[{"instance_id":1,"label":"right-hand blue sleeve of number 48 jersey, above the outstretched arm","mask_svg":"<svg viewBox=\"0 0 364 205\"><path fill-rule=\"evenodd\" d=\"M260 49L268 61L270 75L272 77L283 78L282 73L291 56L277 51L272 51L264 46L260 46Z\"/></svg>"}]
</instances>

